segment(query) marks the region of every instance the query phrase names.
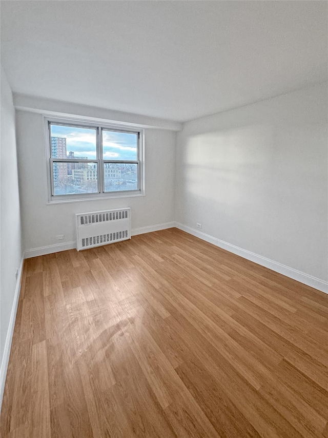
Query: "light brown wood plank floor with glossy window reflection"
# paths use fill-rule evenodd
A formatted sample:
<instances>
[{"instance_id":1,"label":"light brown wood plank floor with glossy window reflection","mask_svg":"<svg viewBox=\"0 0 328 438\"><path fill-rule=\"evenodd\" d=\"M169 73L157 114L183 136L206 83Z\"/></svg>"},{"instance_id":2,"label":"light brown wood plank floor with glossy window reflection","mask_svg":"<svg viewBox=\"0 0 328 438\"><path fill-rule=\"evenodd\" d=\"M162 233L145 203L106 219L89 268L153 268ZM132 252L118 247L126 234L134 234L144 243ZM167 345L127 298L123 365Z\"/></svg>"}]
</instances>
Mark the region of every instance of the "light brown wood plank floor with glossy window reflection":
<instances>
[{"instance_id":1,"label":"light brown wood plank floor with glossy window reflection","mask_svg":"<svg viewBox=\"0 0 328 438\"><path fill-rule=\"evenodd\" d=\"M2 437L328 437L327 320L176 228L28 259Z\"/></svg>"}]
</instances>

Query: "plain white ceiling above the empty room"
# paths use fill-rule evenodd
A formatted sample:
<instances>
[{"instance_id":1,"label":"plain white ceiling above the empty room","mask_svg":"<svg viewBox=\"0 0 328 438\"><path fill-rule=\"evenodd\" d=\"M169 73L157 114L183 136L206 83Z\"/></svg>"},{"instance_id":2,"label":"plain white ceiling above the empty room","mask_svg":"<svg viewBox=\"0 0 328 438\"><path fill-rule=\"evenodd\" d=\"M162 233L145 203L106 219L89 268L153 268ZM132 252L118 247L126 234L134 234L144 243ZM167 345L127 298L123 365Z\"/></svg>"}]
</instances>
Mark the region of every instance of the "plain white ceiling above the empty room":
<instances>
[{"instance_id":1,"label":"plain white ceiling above the empty room","mask_svg":"<svg viewBox=\"0 0 328 438\"><path fill-rule=\"evenodd\" d=\"M15 92L186 121L326 80L325 1L2 1Z\"/></svg>"}]
</instances>

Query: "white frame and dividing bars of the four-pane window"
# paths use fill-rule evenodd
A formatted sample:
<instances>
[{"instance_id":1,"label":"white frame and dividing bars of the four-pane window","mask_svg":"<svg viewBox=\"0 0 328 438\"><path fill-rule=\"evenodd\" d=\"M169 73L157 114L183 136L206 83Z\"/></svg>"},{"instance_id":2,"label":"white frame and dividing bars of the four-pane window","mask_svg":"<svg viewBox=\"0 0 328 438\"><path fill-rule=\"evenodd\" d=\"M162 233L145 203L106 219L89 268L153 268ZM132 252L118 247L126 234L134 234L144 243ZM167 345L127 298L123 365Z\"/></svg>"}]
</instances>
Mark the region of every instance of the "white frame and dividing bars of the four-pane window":
<instances>
[{"instance_id":1,"label":"white frame and dividing bars of the four-pane window","mask_svg":"<svg viewBox=\"0 0 328 438\"><path fill-rule=\"evenodd\" d=\"M97 159L79 160L77 159L65 159L65 158L53 158L51 152L51 131L50 125L66 125L76 126L80 128L96 129L96 152ZM74 118L63 117L50 117L44 116L45 125L45 144L46 144L46 162L47 162L47 186L48 186L48 204L63 203L63 202L80 202L92 199L110 199L110 198L122 198L122 197L134 197L145 196L145 130L129 125L116 125L113 123L95 122L89 120L80 120ZM131 132L137 134L137 160L104 160L103 158L103 143L102 135L103 130L112 130L116 132ZM96 193L77 193L69 195L54 195L54 182L53 182L53 162L65 162L65 163L97 163L97 176L98 176L98 192ZM115 192L105 192L105 163L131 163L138 165L138 189L125 190Z\"/></svg>"}]
</instances>

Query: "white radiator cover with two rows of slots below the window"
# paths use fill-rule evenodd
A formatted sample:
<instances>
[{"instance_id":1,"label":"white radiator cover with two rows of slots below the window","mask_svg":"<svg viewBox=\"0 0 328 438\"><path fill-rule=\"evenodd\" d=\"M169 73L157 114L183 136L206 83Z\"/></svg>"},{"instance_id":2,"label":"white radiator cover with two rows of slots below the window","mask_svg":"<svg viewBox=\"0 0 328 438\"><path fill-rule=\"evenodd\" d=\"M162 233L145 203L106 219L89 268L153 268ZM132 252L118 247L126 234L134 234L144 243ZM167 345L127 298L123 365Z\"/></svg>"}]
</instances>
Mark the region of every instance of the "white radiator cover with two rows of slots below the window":
<instances>
[{"instance_id":1,"label":"white radiator cover with two rows of slots below the window","mask_svg":"<svg viewBox=\"0 0 328 438\"><path fill-rule=\"evenodd\" d=\"M77 251L131 239L130 208L76 216Z\"/></svg>"}]
</instances>

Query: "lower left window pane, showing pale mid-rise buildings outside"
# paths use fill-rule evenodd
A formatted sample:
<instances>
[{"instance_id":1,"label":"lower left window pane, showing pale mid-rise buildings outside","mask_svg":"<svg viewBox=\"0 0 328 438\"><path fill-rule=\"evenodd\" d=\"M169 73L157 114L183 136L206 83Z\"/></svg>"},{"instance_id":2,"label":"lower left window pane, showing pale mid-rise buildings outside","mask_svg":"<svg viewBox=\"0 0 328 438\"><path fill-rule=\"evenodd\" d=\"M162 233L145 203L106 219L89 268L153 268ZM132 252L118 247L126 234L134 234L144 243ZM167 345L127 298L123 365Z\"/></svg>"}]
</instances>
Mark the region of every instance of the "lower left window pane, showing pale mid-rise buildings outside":
<instances>
[{"instance_id":1,"label":"lower left window pane, showing pale mid-rise buildings outside","mask_svg":"<svg viewBox=\"0 0 328 438\"><path fill-rule=\"evenodd\" d=\"M98 192L97 163L53 163L54 195Z\"/></svg>"}]
</instances>

